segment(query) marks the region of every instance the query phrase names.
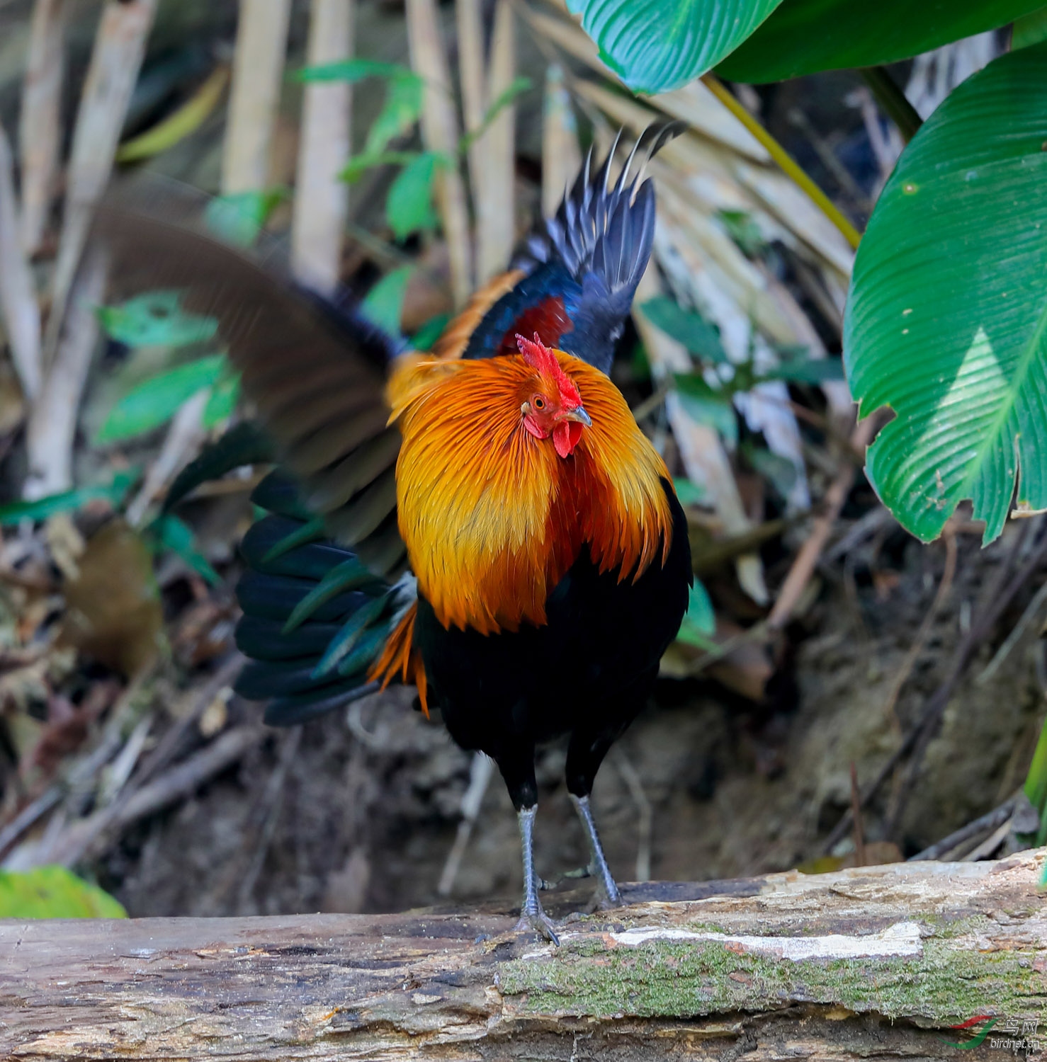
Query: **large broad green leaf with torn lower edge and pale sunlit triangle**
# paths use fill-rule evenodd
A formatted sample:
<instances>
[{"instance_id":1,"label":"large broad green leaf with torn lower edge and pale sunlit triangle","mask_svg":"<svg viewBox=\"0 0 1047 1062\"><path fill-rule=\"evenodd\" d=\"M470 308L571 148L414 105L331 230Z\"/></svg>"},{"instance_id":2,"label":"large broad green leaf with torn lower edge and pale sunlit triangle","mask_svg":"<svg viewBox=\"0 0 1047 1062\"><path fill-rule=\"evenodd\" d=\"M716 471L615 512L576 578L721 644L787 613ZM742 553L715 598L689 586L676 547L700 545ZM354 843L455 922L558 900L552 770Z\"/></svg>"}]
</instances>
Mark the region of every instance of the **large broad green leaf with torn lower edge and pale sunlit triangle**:
<instances>
[{"instance_id":1,"label":"large broad green leaf with torn lower edge and pale sunlit triangle","mask_svg":"<svg viewBox=\"0 0 1047 1062\"><path fill-rule=\"evenodd\" d=\"M851 393L895 418L867 475L917 537L974 501L984 541L1047 507L1047 44L957 88L869 220L844 322Z\"/></svg>"}]
</instances>

